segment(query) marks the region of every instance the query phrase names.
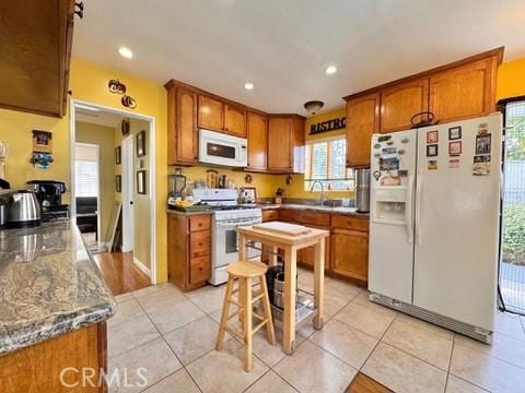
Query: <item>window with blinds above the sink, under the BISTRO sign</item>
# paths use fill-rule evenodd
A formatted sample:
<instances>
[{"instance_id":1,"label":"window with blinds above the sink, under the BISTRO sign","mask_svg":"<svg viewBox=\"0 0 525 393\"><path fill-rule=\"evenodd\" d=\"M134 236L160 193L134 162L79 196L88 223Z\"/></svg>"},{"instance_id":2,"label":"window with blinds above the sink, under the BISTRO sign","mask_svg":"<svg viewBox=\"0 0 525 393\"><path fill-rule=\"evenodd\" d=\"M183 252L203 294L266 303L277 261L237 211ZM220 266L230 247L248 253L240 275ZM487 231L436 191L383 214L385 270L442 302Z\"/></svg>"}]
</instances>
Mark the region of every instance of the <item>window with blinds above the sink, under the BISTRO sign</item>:
<instances>
[{"instance_id":1,"label":"window with blinds above the sink, under the BISTRO sign","mask_svg":"<svg viewBox=\"0 0 525 393\"><path fill-rule=\"evenodd\" d=\"M353 170L346 167L345 136L315 140L306 143L304 189L310 191L318 180L325 190L346 191L354 188ZM315 190L320 189L316 186Z\"/></svg>"}]
</instances>

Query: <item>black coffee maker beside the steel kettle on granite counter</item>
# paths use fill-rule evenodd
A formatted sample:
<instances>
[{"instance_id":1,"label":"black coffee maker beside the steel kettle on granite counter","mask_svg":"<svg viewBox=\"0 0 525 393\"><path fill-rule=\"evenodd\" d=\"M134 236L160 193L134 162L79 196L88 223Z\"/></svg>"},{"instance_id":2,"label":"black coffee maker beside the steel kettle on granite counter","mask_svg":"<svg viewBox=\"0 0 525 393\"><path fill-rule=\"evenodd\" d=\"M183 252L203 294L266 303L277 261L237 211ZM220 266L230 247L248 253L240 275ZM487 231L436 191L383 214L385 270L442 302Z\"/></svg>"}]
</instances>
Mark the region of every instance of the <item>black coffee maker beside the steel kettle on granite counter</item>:
<instances>
[{"instance_id":1,"label":"black coffee maker beside the steel kettle on granite counter","mask_svg":"<svg viewBox=\"0 0 525 393\"><path fill-rule=\"evenodd\" d=\"M34 187L43 221L69 219L69 205L62 204L62 194L66 192L63 181L31 180L26 184Z\"/></svg>"}]
</instances>

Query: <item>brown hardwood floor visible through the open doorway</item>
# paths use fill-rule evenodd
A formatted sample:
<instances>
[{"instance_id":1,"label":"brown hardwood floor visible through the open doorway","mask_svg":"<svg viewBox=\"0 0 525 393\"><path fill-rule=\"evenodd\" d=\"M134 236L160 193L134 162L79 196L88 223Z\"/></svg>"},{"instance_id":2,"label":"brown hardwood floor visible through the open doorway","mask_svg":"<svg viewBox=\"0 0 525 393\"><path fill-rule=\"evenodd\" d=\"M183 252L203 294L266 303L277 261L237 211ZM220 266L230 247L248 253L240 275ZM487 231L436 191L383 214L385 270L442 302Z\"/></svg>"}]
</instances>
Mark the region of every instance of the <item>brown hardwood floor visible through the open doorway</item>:
<instances>
[{"instance_id":1,"label":"brown hardwood floor visible through the open doorway","mask_svg":"<svg viewBox=\"0 0 525 393\"><path fill-rule=\"evenodd\" d=\"M102 252L94 259L115 296L151 285L150 277L135 265L132 252Z\"/></svg>"}]
</instances>

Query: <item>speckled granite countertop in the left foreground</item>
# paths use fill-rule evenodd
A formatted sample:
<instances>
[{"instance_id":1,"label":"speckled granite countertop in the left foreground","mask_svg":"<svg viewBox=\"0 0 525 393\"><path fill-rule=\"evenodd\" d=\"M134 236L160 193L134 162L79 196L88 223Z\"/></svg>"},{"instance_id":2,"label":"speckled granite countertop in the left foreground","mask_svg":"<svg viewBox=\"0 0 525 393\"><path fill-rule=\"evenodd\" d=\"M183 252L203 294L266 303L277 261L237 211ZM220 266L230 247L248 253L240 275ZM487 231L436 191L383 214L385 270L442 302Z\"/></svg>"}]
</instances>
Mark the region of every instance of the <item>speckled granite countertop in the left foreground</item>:
<instances>
[{"instance_id":1,"label":"speckled granite countertop in the left foreground","mask_svg":"<svg viewBox=\"0 0 525 393\"><path fill-rule=\"evenodd\" d=\"M115 310L74 224L0 231L0 354L102 322Z\"/></svg>"}]
</instances>

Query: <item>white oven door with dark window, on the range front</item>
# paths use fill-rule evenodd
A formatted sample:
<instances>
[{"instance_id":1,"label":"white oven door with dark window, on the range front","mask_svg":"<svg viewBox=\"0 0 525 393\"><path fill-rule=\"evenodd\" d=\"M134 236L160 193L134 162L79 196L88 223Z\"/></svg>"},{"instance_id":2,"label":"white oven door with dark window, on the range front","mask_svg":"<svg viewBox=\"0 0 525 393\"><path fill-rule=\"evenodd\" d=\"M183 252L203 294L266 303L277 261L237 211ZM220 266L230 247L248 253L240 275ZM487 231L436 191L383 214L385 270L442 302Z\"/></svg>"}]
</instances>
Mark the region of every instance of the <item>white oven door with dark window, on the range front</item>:
<instances>
[{"instance_id":1,"label":"white oven door with dark window, on the range front","mask_svg":"<svg viewBox=\"0 0 525 393\"><path fill-rule=\"evenodd\" d=\"M215 224L215 248L213 267L226 266L230 263L238 260L238 237L235 230L240 226L250 226L260 224L260 218L252 218L246 221L220 221ZM257 257L260 257L260 243L253 243L254 248L248 248L247 257L254 261Z\"/></svg>"}]
</instances>

